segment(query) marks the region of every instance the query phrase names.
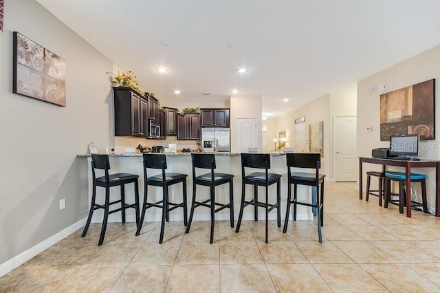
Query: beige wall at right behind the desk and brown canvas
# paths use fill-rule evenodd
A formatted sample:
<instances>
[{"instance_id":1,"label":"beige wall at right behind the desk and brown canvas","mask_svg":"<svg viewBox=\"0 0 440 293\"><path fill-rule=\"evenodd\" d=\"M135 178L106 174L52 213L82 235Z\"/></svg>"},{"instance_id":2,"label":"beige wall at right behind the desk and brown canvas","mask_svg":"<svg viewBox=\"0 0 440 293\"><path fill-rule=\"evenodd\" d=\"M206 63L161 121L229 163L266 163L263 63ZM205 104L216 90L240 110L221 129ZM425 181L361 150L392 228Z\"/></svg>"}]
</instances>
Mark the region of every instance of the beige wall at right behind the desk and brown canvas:
<instances>
[{"instance_id":1,"label":"beige wall at right behind the desk and brown canvas","mask_svg":"<svg viewBox=\"0 0 440 293\"><path fill-rule=\"evenodd\" d=\"M388 147L388 142L380 141L380 93L379 86L386 84L386 92L401 89L408 85L414 85L425 80L435 78L439 80L440 71L440 46L423 52L417 56L402 61L393 67L378 72L373 76L364 78L358 82L358 155L371 156L371 149L377 147ZM370 93L369 89L374 88ZM435 89L436 96L439 96L438 85ZM439 102L436 102L435 113L439 113ZM366 127L372 127L372 131L366 131ZM436 118L435 128L437 138L439 137L439 119ZM426 159L440 159L438 149L439 140L421 141L420 157ZM369 165L364 169L373 170L378 166ZM434 177L435 172L430 169L415 169L413 172L425 173L428 175L428 206L433 207L435 203ZM420 194L420 193L419 193Z\"/></svg>"}]
</instances>

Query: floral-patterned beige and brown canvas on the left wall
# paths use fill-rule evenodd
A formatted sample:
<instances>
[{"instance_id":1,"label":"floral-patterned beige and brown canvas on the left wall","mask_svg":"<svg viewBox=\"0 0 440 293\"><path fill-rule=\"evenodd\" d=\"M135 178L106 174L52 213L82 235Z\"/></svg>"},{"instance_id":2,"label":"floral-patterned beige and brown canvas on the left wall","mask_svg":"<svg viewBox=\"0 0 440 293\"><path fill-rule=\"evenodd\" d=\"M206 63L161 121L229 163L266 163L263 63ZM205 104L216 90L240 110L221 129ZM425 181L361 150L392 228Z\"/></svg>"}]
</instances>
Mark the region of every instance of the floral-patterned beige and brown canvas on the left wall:
<instances>
[{"instance_id":1,"label":"floral-patterned beige and brown canvas on the left wall","mask_svg":"<svg viewBox=\"0 0 440 293\"><path fill-rule=\"evenodd\" d=\"M63 58L14 32L12 91L65 107Z\"/></svg>"}]
</instances>

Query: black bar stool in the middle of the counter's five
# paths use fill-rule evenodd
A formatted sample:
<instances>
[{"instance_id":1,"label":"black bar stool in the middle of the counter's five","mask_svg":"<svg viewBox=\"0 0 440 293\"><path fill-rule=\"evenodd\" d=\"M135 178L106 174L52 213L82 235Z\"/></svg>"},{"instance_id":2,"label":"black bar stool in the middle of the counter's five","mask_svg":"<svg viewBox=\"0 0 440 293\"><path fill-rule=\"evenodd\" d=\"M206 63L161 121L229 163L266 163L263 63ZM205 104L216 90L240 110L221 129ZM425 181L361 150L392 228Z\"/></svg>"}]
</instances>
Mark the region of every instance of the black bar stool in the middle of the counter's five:
<instances>
[{"instance_id":1,"label":"black bar stool in the middle of the counter's five","mask_svg":"<svg viewBox=\"0 0 440 293\"><path fill-rule=\"evenodd\" d=\"M234 175L225 173L216 173L215 157L212 153L191 153L192 160L192 204L190 219L188 221L188 226L186 226L186 233L190 232L192 216L194 215L194 209L198 206L206 206L211 210L211 232L210 232L210 242L214 241L214 215L215 213L223 210L223 208L230 209L230 223L231 228L234 228L234 187L233 179ZM210 173L196 176L197 169L210 169ZM215 186L221 184L229 183L229 204L221 204L215 202ZM197 202L195 198L196 188L198 185L209 186L210 187L210 198L203 200L203 202ZM220 206L215 209L216 206Z\"/></svg>"}]
</instances>

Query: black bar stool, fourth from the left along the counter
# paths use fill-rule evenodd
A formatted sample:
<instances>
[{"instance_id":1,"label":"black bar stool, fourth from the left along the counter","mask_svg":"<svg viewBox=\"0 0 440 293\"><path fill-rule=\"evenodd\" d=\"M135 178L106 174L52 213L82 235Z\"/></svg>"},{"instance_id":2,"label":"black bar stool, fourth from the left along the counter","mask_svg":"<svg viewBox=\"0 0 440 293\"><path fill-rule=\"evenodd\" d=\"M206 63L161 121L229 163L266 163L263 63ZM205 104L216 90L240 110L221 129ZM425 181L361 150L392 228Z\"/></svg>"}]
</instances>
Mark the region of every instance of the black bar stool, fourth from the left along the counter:
<instances>
[{"instance_id":1,"label":"black bar stool, fourth from the left along the counter","mask_svg":"<svg viewBox=\"0 0 440 293\"><path fill-rule=\"evenodd\" d=\"M254 172L249 175L245 175L245 168L265 169L264 172ZM258 221L258 208L265 208L266 212L266 231L265 242L267 243L268 230L269 230L269 212L276 208L276 219L278 227L281 227L281 175L275 173L269 173L270 169L270 155L268 153L241 153L241 206L239 221L236 224L235 232L239 232L241 219L243 219L243 209L245 206L254 206L254 218ZM269 204L269 186L276 183L276 203ZM254 198L247 201L245 200L245 184L254 186ZM258 186L265 186L266 201L259 202L258 199Z\"/></svg>"}]
</instances>

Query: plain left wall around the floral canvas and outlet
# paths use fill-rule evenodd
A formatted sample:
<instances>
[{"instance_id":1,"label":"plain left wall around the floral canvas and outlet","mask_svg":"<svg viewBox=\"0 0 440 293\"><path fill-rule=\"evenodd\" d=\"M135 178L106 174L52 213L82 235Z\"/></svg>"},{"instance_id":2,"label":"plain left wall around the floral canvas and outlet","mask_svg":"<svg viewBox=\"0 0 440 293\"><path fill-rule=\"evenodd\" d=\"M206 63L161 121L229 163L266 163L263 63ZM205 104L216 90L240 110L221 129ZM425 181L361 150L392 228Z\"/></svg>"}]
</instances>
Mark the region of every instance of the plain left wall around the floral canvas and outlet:
<instances>
[{"instance_id":1,"label":"plain left wall around the floral canvas and outlet","mask_svg":"<svg viewBox=\"0 0 440 293\"><path fill-rule=\"evenodd\" d=\"M87 161L111 142L112 63L34 0L5 1L0 32L0 264L87 216ZM66 61L66 107L12 94L12 31ZM59 200L66 208L59 210Z\"/></svg>"}]
</instances>

